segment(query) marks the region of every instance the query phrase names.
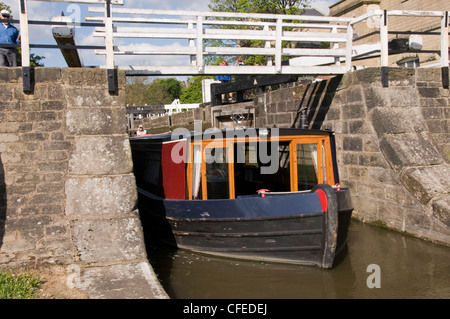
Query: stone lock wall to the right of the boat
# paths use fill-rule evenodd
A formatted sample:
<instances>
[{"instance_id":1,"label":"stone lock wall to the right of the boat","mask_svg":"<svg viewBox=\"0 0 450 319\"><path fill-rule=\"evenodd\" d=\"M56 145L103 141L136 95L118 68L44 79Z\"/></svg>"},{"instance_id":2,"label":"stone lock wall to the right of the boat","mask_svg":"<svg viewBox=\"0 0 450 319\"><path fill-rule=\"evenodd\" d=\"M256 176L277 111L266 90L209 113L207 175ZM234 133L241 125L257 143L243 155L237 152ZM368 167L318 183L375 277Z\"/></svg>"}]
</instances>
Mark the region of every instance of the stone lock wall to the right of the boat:
<instances>
[{"instance_id":1,"label":"stone lock wall to the right of the boat","mask_svg":"<svg viewBox=\"0 0 450 319\"><path fill-rule=\"evenodd\" d=\"M336 132L341 184L352 192L354 217L450 245L450 94L440 69L389 69L262 94L257 127Z\"/></svg>"}]
</instances>

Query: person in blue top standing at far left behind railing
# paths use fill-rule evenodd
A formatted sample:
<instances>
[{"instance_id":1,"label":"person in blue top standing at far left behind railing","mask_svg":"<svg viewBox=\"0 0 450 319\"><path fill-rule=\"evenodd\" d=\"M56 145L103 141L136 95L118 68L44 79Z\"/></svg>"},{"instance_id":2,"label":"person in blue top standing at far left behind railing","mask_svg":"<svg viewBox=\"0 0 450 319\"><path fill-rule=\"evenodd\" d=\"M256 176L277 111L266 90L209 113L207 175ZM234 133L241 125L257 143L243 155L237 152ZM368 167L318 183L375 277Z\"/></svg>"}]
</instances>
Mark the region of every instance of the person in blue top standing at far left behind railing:
<instances>
[{"instance_id":1,"label":"person in blue top standing at far left behind railing","mask_svg":"<svg viewBox=\"0 0 450 319\"><path fill-rule=\"evenodd\" d=\"M11 18L9 10L0 11L0 19ZM3 22L0 26L0 66L17 66L17 50L12 47L2 47L2 44L18 44L19 30L9 22Z\"/></svg>"}]
</instances>

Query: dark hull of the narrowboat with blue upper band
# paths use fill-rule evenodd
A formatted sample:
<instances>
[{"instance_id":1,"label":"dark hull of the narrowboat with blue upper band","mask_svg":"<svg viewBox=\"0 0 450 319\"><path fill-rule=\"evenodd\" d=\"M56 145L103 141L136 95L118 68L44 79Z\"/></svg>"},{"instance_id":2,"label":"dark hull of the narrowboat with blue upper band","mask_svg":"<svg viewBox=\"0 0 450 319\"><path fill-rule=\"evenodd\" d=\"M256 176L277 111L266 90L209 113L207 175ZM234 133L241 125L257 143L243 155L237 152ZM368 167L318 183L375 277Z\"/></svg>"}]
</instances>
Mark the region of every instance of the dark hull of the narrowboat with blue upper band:
<instances>
[{"instance_id":1,"label":"dark hull of the narrowboat with blue upper band","mask_svg":"<svg viewBox=\"0 0 450 319\"><path fill-rule=\"evenodd\" d=\"M345 250L353 207L347 189L321 185L207 201L167 200L139 189L139 210L146 235L178 248L331 268Z\"/></svg>"}]
</instances>

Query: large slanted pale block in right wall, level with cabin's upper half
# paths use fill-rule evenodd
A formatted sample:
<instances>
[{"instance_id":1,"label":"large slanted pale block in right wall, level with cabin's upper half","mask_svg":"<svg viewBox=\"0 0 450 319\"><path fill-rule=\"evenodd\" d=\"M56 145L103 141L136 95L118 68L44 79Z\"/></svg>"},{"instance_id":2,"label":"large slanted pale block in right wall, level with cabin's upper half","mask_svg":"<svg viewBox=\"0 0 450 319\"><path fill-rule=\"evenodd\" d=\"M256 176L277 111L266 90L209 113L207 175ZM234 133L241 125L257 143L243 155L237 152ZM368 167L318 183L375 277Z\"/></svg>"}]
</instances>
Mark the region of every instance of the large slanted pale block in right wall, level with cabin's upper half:
<instances>
[{"instance_id":1,"label":"large slanted pale block in right wall, level with cabin's upper half","mask_svg":"<svg viewBox=\"0 0 450 319\"><path fill-rule=\"evenodd\" d=\"M397 171L408 166L442 163L442 157L426 134L386 134L380 140L380 149Z\"/></svg>"}]
</instances>

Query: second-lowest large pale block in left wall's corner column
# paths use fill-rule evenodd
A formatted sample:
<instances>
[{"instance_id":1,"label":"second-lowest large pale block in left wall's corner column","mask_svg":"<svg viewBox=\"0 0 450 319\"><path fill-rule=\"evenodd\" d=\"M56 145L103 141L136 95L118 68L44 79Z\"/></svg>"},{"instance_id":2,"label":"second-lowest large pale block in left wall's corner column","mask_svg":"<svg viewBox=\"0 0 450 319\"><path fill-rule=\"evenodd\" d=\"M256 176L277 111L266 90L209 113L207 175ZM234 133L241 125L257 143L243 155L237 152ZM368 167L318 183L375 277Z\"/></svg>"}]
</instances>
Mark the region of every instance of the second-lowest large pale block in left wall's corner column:
<instances>
[{"instance_id":1,"label":"second-lowest large pale block in left wall's corner column","mask_svg":"<svg viewBox=\"0 0 450 319\"><path fill-rule=\"evenodd\" d=\"M139 218L74 220L72 240L86 263L131 261L146 257Z\"/></svg>"}]
</instances>

